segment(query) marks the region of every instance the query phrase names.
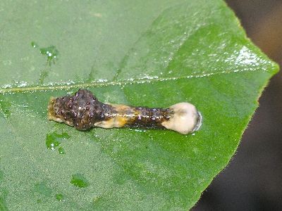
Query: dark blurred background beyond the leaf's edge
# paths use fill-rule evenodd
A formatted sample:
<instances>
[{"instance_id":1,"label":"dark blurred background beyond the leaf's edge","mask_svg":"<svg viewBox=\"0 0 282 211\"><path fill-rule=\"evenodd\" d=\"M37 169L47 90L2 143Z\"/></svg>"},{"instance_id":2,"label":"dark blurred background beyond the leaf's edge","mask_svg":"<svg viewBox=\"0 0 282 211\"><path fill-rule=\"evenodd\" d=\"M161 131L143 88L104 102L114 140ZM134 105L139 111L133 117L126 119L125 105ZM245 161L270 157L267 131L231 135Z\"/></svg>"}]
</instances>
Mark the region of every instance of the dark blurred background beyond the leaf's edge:
<instances>
[{"instance_id":1,"label":"dark blurred background beyond the leaf's edge","mask_svg":"<svg viewBox=\"0 0 282 211\"><path fill-rule=\"evenodd\" d=\"M228 0L247 36L282 66L282 0ZM192 208L282 210L282 71L259 99L236 155Z\"/></svg>"}]
</instances>

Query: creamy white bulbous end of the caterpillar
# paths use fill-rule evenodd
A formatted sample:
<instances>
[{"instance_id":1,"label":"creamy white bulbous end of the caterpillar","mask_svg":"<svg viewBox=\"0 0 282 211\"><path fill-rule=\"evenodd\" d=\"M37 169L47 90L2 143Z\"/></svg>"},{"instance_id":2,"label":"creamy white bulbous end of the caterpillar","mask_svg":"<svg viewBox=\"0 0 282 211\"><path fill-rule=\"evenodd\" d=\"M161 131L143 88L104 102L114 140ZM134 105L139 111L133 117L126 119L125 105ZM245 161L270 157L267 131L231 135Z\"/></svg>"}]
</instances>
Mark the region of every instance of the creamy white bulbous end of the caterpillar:
<instances>
[{"instance_id":1,"label":"creamy white bulbous end of the caterpillar","mask_svg":"<svg viewBox=\"0 0 282 211\"><path fill-rule=\"evenodd\" d=\"M161 124L166 129L171 129L180 134L188 134L200 129L202 124L202 115L191 103L177 103L171 107L174 114L168 121Z\"/></svg>"}]
</instances>

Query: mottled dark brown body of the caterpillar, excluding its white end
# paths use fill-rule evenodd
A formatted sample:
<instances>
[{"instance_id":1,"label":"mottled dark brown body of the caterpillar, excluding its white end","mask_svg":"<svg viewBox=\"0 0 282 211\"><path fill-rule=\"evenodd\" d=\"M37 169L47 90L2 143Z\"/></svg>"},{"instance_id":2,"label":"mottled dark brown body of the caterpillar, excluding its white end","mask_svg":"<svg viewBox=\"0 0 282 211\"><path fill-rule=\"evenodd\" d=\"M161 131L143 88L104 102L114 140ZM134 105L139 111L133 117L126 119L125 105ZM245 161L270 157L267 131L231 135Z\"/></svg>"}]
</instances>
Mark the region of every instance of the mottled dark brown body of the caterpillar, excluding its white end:
<instances>
[{"instance_id":1,"label":"mottled dark brown body of the caterpillar, excluding its white end","mask_svg":"<svg viewBox=\"0 0 282 211\"><path fill-rule=\"evenodd\" d=\"M79 130L91 127L142 127L168 128L172 108L146 108L101 103L91 91L80 89L74 96L51 98L48 106L48 118L64 122ZM173 129L173 128L168 128ZM176 130L176 129L173 129Z\"/></svg>"}]
</instances>

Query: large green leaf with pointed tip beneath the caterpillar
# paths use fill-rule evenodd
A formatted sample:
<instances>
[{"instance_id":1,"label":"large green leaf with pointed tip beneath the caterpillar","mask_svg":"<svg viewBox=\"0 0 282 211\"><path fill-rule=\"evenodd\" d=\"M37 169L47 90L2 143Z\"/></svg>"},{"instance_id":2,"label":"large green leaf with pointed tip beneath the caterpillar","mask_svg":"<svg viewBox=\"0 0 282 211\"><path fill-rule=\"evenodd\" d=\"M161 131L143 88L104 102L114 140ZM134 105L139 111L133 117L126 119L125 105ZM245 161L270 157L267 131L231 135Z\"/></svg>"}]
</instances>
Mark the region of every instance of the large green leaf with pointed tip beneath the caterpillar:
<instances>
[{"instance_id":1,"label":"large green leaf with pointed tip beneath the caterpillar","mask_svg":"<svg viewBox=\"0 0 282 211\"><path fill-rule=\"evenodd\" d=\"M188 210L278 71L219 0L4 0L0 19L4 210ZM78 88L133 106L188 101L202 128L79 132L47 121L50 96Z\"/></svg>"}]
</instances>

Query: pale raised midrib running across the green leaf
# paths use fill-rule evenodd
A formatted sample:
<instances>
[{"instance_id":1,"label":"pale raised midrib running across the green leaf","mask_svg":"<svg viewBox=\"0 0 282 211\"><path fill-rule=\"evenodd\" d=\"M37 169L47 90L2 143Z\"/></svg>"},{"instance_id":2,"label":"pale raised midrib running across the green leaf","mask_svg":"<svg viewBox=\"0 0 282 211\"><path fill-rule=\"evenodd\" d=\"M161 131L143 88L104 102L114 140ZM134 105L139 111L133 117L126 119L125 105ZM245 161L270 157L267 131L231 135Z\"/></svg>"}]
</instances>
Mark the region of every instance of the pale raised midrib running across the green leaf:
<instances>
[{"instance_id":1,"label":"pale raised midrib running across the green leaf","mask_svg":"<svg viewBox=\"0 0 282 211\"><path fill-rule=\"evenodd\" d=\"M258 72L259 70L252 70L252 72ZM268 72L266 70L264 72ZM187 76L179 76L179 77L158 77L153 76L151 78L141 78L141 79L125 79L125 80L117 80L117 81L109 81L109 82L78 82L78 83L61 83L54 85L31 85L27 87L9 87L9 88L0 88L0 94L13 94L17 92L29 92L29 91L49 91L49 90L58 90L58 89L75 89L75 88L87 88L87 87L106 87L106 86L125 86L127 84L144 84L151 82L163 82L163 81L171 81L178 79L191 79L191 78L200 78L200 77L210 77L213 75L222 75L229 73L240 73L240 72L250 72L248 70L224 70L221 72L210 72L205 74L195 74L195 75L187 75ZM5 87L5 85L2 85Z\"/></svg>"}]
</instances>

